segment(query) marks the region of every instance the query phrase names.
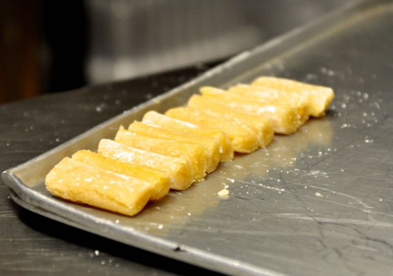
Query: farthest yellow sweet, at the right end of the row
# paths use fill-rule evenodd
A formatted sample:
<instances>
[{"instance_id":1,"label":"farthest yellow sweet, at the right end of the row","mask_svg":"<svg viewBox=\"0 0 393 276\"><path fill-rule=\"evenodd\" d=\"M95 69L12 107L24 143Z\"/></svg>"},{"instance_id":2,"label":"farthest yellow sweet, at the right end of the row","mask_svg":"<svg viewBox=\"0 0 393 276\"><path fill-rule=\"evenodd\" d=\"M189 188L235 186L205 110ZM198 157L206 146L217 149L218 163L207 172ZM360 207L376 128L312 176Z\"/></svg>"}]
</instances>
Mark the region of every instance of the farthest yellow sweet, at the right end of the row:
<instances>
[{"instance_id":1,"label":"farthest yellow sweet, at the right end of the row","mask_svg":"<svg viewBox=\"0 0 393 276\"><path fill-rule=\"evenodd\" d=\"M324 116L335 97L334 91L330 87L308 84L281 77L261 76L255 79L252 85L285 89L292 93L309 95L310 115L314 117Z\"/></svg>"}]
</instances>

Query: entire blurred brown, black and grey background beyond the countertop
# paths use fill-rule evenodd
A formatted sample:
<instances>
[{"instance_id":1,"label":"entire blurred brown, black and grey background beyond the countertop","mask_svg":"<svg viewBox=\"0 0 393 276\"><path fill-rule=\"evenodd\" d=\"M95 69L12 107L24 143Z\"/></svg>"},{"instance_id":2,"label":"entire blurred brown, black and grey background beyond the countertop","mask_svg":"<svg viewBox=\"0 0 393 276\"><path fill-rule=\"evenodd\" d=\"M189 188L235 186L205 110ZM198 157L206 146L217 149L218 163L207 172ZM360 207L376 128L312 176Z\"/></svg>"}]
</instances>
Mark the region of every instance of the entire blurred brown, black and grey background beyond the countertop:
<instances>
[{"instance_id":1,"label":"entire blurred brown, black and grey background beyond the countertop","mask_svg":"<svg viewBox=\"0 0 393 276\"><path fill-rule=\"evenodd\" d=\"M351 0L1 0L0 103L224 60Z\"/></svg>"}]
</instances>

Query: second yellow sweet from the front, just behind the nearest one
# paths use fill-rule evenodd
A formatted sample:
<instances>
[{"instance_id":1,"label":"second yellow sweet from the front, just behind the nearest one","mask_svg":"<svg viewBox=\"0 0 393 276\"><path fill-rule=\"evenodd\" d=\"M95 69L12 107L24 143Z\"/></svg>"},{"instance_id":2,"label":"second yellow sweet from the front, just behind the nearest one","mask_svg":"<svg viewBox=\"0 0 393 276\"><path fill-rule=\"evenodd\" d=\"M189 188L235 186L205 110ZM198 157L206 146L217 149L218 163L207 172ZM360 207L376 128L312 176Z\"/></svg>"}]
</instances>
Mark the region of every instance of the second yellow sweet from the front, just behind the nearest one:
<instances>
[{"instance_id":1,"label":"second yellow sweet from the front, just behind the nearest one","mask_svg":"<svg viewBox=\"0 0 393 276\"><path fill-rule=\"evenodd\" d=\"M161 199L169 192L170 180L167 172L146 166L121 162L120 160L85 150L74 153L72 155L72 159L89 166L94 166L113 173L132 176L143 181L147 181L152 187L151 200Z\"/></svg>"}]
</instances>

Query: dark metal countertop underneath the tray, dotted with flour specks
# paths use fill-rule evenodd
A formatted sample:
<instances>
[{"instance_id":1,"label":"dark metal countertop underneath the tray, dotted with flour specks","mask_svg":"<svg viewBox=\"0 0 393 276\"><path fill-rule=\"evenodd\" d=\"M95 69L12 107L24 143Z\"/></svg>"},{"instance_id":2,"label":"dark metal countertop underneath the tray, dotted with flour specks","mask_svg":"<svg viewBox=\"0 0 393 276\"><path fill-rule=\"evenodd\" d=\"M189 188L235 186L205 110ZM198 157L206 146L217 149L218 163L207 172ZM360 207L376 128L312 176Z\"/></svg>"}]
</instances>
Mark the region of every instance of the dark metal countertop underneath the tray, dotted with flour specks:
<instances>
[{"instance_id":1,"label":"dark metal countertop underneath the tray, dotted with flour specks","mask_svg":"<svg viewBox=\"0 0 393 276\"><path fill-rule=\"evenodd\" d=\"M196 67L0 105L0 171L44 153L207 70ZM184 275L204 269L30 212L0 179L1 275Z\"/></svg>"}]
</instances>

